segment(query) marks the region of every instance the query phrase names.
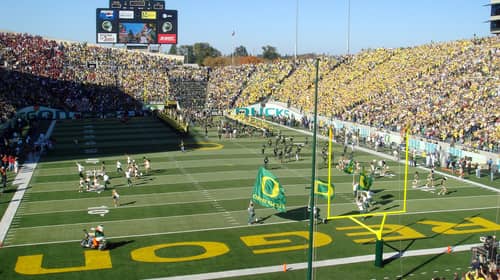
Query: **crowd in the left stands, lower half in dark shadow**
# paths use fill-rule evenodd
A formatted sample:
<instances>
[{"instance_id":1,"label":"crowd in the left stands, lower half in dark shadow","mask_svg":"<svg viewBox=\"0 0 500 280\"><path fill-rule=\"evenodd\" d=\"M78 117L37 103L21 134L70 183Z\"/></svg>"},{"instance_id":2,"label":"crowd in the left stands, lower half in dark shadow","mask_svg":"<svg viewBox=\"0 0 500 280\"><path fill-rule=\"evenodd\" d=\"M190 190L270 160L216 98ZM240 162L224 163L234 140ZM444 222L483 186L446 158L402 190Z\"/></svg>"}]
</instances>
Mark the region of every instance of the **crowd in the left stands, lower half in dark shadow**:
<instances>
[{"instance_id":1,"label":"crowd in the left stands, lower half in dark shadow","mask_svg":"<svg viewBox=\"0 0 500 280\"><path fill-rule=\"evenodd\" d=\"M0 33L2 116L29 105L77 112L141 110L165 100L172 61L140 52Z\"/></svg>"}]
</instances>

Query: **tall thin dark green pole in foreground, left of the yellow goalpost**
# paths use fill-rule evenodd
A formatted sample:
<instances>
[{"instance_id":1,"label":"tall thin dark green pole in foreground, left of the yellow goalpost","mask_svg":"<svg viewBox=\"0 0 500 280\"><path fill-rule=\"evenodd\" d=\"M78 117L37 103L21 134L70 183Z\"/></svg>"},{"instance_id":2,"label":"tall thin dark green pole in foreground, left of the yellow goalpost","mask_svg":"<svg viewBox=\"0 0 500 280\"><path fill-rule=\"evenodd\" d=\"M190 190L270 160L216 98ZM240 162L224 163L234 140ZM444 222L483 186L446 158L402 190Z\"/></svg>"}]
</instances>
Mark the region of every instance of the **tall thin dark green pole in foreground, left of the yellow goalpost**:
<instances>
[{"instance_id":1,"label":"tall thin dark green pole in foreground, left of the yellow goalpost","mask_svg":"<svg viewBox=\"0 0 500 280\"><path fill-rule=\"evenodd\" d=\"M314 82L314 131L312 146L312 171L311 171L311 193L309 196L311 211L309 211L309 249L307 253L307 279L312 279L312 251L314 244L314 181L316 180L316 131L318 130L318 79L319 79L319 58L316 59L316 80Z\"/></svg>"}]
</instances>

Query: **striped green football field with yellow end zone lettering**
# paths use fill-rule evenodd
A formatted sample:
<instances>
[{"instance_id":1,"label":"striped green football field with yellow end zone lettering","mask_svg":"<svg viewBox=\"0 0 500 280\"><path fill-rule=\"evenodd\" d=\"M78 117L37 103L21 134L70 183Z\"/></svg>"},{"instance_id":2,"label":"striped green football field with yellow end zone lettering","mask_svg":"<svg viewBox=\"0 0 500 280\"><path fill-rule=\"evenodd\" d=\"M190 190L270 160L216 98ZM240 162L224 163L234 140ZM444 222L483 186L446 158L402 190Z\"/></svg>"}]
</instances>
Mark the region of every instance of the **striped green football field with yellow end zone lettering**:
<instances>
[{"instance_id":1,"label":"striped green football field with yellow end zone lettering","mask_svg":"<svg viewBox=\"0 0 500 280\"><path fill-rule=\"evenodd\" d=\"M300 160L281 163L272 155L269 170L284 186L287 212L256 206L260 223L247 225L247 206L257 169L263 165L261 136L219 140L216 128L208 138L199 127L183 142L180 135L155 118L58 121L53 138L56 149L43 156L0 249L3 279L163 278L210 272L284 267L286 271L234 276L228 279L305 279L306 270L293 264L307 262L307 203L311 174L311 137L276 128L296 143L306 143ZM76 141L75 141L76 140ZM275 139L272 138L274 141ZM320 141L319 147L325 143ZM334 145L336 158L342 146ZM321 149L318 149L318 154ZM127 187L115 162L126 165L126 155L142 165L151 160L152 171ZM359 151L354 158L367 166L379 157ZM94 164L92 160L97 159ZM336 159L337 160L337 159ZM111 186L101 193L78 192L75 162L86 170L105 162ZM394 177L376 178L374 199L383 210L401 204L401 164L388 161ZM326 168L318 156L318 176ZM141 166L142 168L142 166ZM413 174L410 168L409 174ZM425 184L426 171L420 170ZM473 176L473 175L472 175ZM409 176L411 186L412 176ZM356 209L352 199L352 175L334 170L337 210ZM482 178L481 183L499 188ZM498 192L450 178L449 194L408 190L408 213L389 216L384 252L398 253L439 249L440 253L386 259L384 268L373 261L324 266L315 269L317 279L430 279L468 270L468 251L447 248L476 244L480 236L495 235L498 224ZM120 207L113 207L111 189L120 193ZM5 209L14 189L0 197ZM322 212L325 200L318 200ZM89 214L99 207L104 215ZM379 218L365 223L378 226ZM94 251L79 245L82 229L103 224L110 249ZM341 260L372 255L374 237L349 220L317 224L315 261ZM442 249L442 250L441 250ZM85 255L87 257L85 257ZM255 271L255 272L256 272ZM388 278L385 278L388 277ZM189 278L188 278L189 279ZM200 278L201 279L201 278Z\"/></svg>"}]
</instances>

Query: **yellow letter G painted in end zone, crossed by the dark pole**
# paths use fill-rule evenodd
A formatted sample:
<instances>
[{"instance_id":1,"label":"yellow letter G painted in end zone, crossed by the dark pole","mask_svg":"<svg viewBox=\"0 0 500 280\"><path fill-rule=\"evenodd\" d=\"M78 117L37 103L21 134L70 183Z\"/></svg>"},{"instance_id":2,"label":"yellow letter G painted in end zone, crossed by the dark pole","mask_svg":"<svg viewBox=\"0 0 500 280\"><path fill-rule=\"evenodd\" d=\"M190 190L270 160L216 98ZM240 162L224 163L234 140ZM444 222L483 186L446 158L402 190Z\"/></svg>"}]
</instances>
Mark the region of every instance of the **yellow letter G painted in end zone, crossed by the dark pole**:
<instances>
[{"instance_id":1,"label":"yellow letter G painted in end zone, crossed by the dark pole","mask_svg":"<svg viewBox=\"0 0 500 280\"><path fill-rule=\"evenodd\" d=\"M268 233L268 234L260 234L260 235L249 235L249 236L241 236L241 241L245 243L248 247L256 247L256 246L268 246L268 245L279 245L279 244L287 244L292 243L293 241L287 238L276 239L276 237L284 237L284 236L299 236L304 238L305 240L309 240L309 232L307 231L292 231L292 232L280 232L280 233ZM271 239L272 238L272 239ZM269 240L271 239L271 240ZM329 235L326 235L321 232L314 233L314 248L322 247L328 245L332 242L332 238ZM286 251L295 251L295 250L304 250L308 248L308 244L300 244L300 245L292 245L286 247L279 248L268 248L268 249L256 249L252 252L254 254L268 254L268 253L277 253L277 252L286 252Z\"/></svg>"}]
</instances>

